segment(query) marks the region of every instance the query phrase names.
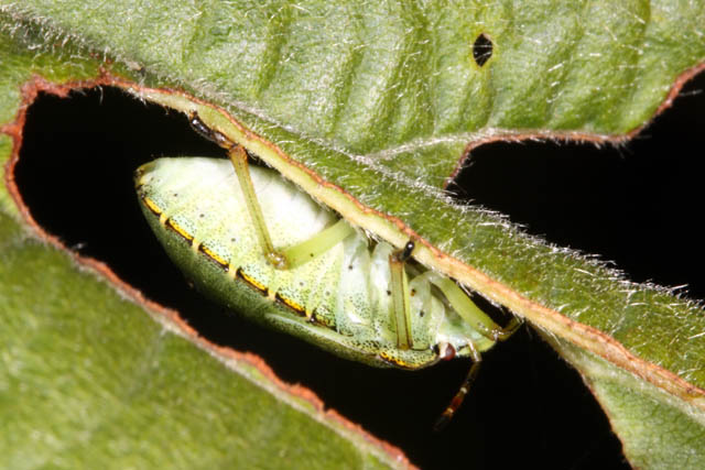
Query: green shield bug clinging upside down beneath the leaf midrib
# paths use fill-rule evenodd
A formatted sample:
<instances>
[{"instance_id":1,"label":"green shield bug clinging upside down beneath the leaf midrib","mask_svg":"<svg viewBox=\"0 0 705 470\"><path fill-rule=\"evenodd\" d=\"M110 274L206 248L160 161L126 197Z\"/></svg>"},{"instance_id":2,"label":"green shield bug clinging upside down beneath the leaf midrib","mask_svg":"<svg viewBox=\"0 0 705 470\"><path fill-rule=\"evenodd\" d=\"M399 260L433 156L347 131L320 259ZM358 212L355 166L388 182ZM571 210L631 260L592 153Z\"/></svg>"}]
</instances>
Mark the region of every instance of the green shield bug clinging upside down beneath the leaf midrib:
<instances>
[{"instance_id":1,"label":"green shield bug clinging upside down beneath the leaf midrib","mask_svg":"<svg viewBox=\"0 0 705 470\"><path fill-rule=\"evenodd\" d=\"M467 357L473 365L436 423L475 380L481 352L508 338L451 278L413 261L314 201L197 114L191 123L227 149L220 159L159 159L137 171L142 210L195 286L235 310L347 359L421 369Z\"/></svg>"}]
</instances>

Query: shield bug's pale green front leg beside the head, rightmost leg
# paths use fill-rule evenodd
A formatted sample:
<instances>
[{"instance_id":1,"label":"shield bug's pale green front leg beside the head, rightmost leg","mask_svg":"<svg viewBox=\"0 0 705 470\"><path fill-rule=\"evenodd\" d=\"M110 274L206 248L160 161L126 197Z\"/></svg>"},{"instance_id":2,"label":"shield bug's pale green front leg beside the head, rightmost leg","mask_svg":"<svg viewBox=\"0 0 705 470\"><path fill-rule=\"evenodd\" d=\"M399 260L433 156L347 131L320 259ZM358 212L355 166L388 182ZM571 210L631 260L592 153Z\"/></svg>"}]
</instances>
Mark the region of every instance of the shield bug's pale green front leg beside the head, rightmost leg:
<instances>
[{"instance_id":1,"label":"shield bug's pale green front leg beside the head, rightmost leg","mask_svg":"<svg viewBox=\"0 0 705 470\"><path fill-rule=\"evenodd\" d=\"M519 317L512 317L506 327L497 325L487 314L475 305L458 285L438 274L432 274L429 280L443 292L455 311L467 321L473 328L477 329L480 335L491 339L492 341L503 341L509 338L521 326L523 320Z\"/></svg>"}]
</instances>

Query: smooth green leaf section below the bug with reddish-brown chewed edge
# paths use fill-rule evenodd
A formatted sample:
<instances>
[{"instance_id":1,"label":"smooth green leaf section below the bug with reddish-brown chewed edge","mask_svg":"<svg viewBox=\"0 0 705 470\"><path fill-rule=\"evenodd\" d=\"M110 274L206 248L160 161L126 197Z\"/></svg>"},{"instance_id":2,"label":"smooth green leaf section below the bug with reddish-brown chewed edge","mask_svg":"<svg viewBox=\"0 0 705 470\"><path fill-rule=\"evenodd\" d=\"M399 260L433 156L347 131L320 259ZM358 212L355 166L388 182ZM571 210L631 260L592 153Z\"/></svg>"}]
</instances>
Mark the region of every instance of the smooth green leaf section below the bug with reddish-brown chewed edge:
<instances>
[{"instance_id":1,"label":"smooth green leaf section below the bug with reddish-brown chewed edge","mask_svg":"<svg viewBox=\"0 0 705 470\"><path fill-rule=\"evenodd\" d=\"M394 464L256 361L209 356L1 217L2 467Z\"/></svg>"}]
</instances>

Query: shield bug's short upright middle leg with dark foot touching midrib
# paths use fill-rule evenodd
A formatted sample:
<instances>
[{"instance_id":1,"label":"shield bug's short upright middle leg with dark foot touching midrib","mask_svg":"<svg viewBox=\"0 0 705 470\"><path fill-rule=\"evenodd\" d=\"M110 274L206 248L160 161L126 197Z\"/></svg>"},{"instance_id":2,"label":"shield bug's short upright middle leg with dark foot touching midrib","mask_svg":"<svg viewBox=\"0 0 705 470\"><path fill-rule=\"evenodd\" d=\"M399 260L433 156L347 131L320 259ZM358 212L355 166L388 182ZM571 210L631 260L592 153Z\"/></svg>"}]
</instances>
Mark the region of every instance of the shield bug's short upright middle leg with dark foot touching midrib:
<instances>
[{"instance_id":1,"label":"shield bug's short upright middle leg with dark foot touching midrib","mask_svg":"<svg viewBox=\"0 0 705 470\"><path fill-rule=\"evenodd\" d=\"M394 324L397 325L397 347L399 349L413 348L411 336L411 303L409 293L409 277L404 263L414 251L414 242L408 242L403 249L389 255L389 270L391 273L392 309Z\"/></svg>"}]
</instances>

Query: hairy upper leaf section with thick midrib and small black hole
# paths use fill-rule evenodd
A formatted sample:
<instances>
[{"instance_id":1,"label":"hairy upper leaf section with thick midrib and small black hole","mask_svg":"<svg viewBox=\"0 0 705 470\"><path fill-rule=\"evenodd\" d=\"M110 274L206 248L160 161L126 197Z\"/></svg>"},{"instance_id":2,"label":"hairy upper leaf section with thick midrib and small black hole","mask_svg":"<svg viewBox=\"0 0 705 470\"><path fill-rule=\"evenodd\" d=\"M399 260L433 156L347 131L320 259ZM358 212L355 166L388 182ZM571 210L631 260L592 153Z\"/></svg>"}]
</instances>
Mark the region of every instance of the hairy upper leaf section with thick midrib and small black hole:
<instances>
[{"instance_id":1,"label":"hairy upper leaf section with thick midrib and small black hole","mask_svg":"<svg viewBox=\"0 0 705 470\"><path fill-rule=\"evenodd\" d=\"M629 283L440 190L484 142L633 134L679 77L703 63L702 2L29 1L2 11L12 47L51 52L70 37L58 47L62 64L93 64L90 53L105 52L118 62L105 67L127 77L106 83L198 109L354 222L397 245L417 238L422 262L556 338L607 407L632 463L669 463L644 457L653 449L640 444L636 423L649 412L662 429L683 429L683 446L702 459L691 433L702 433L694 423L705 413L702 307ZM494 44L481 67L473 58L480 34ZM9 122L13 111L3 112ZM589 365L595 358L599 367ZM610 374L627 379L604 380ZM620 393L633 405L615 400ZM672 451L654 445L654 455Z\"/></svg>"}]
</instances>

